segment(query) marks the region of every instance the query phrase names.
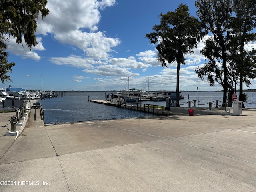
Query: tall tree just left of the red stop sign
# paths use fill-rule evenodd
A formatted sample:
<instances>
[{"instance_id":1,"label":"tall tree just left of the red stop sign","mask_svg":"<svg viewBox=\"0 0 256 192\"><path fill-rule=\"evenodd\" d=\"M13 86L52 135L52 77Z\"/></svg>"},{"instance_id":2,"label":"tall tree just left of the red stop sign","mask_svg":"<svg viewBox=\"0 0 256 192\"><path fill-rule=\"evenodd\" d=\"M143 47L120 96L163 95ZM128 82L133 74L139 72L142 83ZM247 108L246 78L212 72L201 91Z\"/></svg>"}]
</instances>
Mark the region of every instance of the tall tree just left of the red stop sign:
<instances>
[{"instance_id":1,"label":"tall tree just left of the red stop sign","mask_svg":"<svg viewBox=\"0 0 256 192\"><path fill-rule=\"evenodd\" d=\"M206 40L206 46L201 51L209 62L205 62L202 68L196 68L195 72L203 81L206 76L210 86L218 82L223 87L224 106L228 90L234 90L234 79L230 75L231 71L228 70L228 39L226 38L232 10L231 0L196 0L195 5L204 30L211 32L213 36Z\"/></svg>"}]
</instances>

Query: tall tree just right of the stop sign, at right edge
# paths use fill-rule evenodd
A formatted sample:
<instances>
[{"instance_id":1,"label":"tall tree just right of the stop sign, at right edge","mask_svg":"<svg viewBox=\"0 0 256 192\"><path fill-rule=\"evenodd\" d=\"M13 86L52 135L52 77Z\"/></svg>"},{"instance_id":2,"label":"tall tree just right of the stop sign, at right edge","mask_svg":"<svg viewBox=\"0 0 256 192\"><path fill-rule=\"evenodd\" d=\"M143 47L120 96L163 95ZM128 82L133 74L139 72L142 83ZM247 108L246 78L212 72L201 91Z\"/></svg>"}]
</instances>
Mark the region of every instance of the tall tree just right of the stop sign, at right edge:
<instances>
[{"instance_id":1,"label":"tall tree just right of the stop sign, at right edge","mask_svg":"<svg viewBox=\"0 0 256 192\"><path fill-rule=\"evenodd\" d=\"M234 0L233 15L230 20L230 62L233 63L239 77L239 100L246 101L243 94L243 82L249 86L250 79L256 77L256 50L245 50L248 42L255 42L256 0ZM244 103L242 103L244 107Z\"/></svg>"}]
</instances>

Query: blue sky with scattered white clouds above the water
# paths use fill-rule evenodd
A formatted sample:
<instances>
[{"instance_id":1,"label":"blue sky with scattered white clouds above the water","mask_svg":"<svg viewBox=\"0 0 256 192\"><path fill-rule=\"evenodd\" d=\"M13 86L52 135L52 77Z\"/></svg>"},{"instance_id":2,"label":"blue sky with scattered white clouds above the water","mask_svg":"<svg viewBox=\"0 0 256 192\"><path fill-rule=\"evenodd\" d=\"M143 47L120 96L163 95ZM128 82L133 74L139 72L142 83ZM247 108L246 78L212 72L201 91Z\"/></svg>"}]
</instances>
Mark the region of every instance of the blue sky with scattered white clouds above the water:
<instances>
[{"instance_id":1,"label":"blue sky with scattered white clouds above the water","mask_svg":"<svg viewBox=\"0 0 256 192\"><path fill-rule=\"evenodd\" d=\"M27 90L174 91L176 62L162 67L155 45L145 36L160 24L161 12L175 11L179 4L186 4L196 16L193 0L48 0L50 13L38 20L38 45L30 50L12 37L6 42L8 62L16 65L8 74L12 82L0 83L0 88L11 84ZM194 72L204 64L203 47L201 42L194 54L186 55L180 91L222 90ZM256 88L254 81L249 88Z\"/></svg>"}]
</instances>

